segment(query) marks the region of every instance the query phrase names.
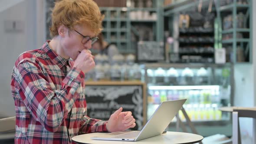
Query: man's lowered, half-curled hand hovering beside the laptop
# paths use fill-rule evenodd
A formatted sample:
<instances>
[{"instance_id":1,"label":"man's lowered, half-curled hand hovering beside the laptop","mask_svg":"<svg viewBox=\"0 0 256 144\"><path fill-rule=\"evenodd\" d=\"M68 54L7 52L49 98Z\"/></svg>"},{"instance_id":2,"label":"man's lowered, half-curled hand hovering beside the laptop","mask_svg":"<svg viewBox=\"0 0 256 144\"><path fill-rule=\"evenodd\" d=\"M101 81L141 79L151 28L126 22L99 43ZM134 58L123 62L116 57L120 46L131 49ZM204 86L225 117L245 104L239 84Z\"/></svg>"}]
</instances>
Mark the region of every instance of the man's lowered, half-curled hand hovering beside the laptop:
<instances>
[{"instance_id":1,"label":"man's lowered, half-curled hand hovering beside the laptop","mask_svg":"<svg viewBox=\"0 0 256 144\"><path fill-rule=\"evenodd\" d=\"M123 108L119 108L109 118L106 124L109 132L125 131L128 128L134 128L136 123L135 119L131 115L131 111L121 112Z\"/></svg>"}]
</instances>

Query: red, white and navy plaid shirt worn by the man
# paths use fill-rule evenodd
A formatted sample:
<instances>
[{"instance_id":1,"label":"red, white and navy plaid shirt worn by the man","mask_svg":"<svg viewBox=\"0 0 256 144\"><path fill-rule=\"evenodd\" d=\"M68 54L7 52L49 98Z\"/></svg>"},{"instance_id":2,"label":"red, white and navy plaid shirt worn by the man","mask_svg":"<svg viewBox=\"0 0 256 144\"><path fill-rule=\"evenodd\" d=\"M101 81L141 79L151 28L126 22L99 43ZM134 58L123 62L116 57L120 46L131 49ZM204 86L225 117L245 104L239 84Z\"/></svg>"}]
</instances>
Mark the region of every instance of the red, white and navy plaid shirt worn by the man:
<instances>
[{"instance_id":1,"label":"red, white and navy plaid shirt worn by the man","mask_svg":"<svg viewBox=\"0 0 256 144\"><path fill-rule=\"evenodd\" d=\"M18 57L11 79L16 144L69 144L78 134L107 131L107 121L86 115L85 75L73 63L48 42Z\"/></svg>"}]
</instances>

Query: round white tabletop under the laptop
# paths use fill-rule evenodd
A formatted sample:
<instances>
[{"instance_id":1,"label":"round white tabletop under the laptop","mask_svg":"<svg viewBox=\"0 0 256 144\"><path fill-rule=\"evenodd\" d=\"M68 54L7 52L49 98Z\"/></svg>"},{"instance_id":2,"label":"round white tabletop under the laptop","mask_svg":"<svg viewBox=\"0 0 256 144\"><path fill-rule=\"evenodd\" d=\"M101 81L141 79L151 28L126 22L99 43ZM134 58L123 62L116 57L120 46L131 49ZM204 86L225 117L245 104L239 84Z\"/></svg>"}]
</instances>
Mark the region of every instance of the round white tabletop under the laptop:
<instances>
[{"instance_id":1,"label":"round white tabletop under the laptop","mask_svg":"<svg viewBox=\"0 0 256 144\"><path fill-rule=\"evenodd\" d=\"M81 134L72 137L72 141L77 144L194 144L203 140L203 137L198 134L173 131L167 131L166 134L146 138L141 141L102 141L90 139L90 137L99 136L102 134L105 133Z\"/></svg>"}]
</instances>

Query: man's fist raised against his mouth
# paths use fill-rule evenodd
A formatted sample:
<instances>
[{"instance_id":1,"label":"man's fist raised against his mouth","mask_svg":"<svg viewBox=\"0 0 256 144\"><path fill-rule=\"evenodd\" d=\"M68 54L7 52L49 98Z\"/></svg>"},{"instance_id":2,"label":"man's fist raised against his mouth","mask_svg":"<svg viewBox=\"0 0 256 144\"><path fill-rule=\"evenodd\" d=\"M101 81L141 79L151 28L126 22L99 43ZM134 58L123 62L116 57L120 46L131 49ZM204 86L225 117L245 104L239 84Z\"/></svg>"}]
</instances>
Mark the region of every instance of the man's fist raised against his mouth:
<instances>
[{"instance_id":1,"label":"man's fist raised against his mouth","mask_svg":"<svg viewBox=\"0 0 256 144\"><path fill-rule=\"evenodd\" d=\"M84 73L89 72L95 67L95 62L93 59L94 56L92 56L92 52L88 49L84 49L75 59L74 67L81 69Z\"/></svg>"}]
</instances>

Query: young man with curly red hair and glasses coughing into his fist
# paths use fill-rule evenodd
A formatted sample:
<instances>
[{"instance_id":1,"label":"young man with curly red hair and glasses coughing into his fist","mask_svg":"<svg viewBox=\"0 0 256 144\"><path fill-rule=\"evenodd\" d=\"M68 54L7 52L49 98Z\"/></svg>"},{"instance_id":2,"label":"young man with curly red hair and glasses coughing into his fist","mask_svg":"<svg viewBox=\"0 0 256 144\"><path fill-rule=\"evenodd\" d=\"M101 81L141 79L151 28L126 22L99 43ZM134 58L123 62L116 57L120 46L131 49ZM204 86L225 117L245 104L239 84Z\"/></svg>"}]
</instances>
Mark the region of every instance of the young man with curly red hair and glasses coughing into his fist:
<instances>
[{"instance_id":1,"label":"young man with curly red hair and glasses coughing into his fist","mask_svg":"<svg viewBox=\"0 0 256 144\"><path fill-rule=\"evenodd\" d=\"M122 108L108 121L86 115L84 77L95 67L89 49L103 17L92 0L62 0L53 9L53 39L18 57L11 79L16 144L69 144L78 134L135 127Z\"/></svg>"}]
</instances>

